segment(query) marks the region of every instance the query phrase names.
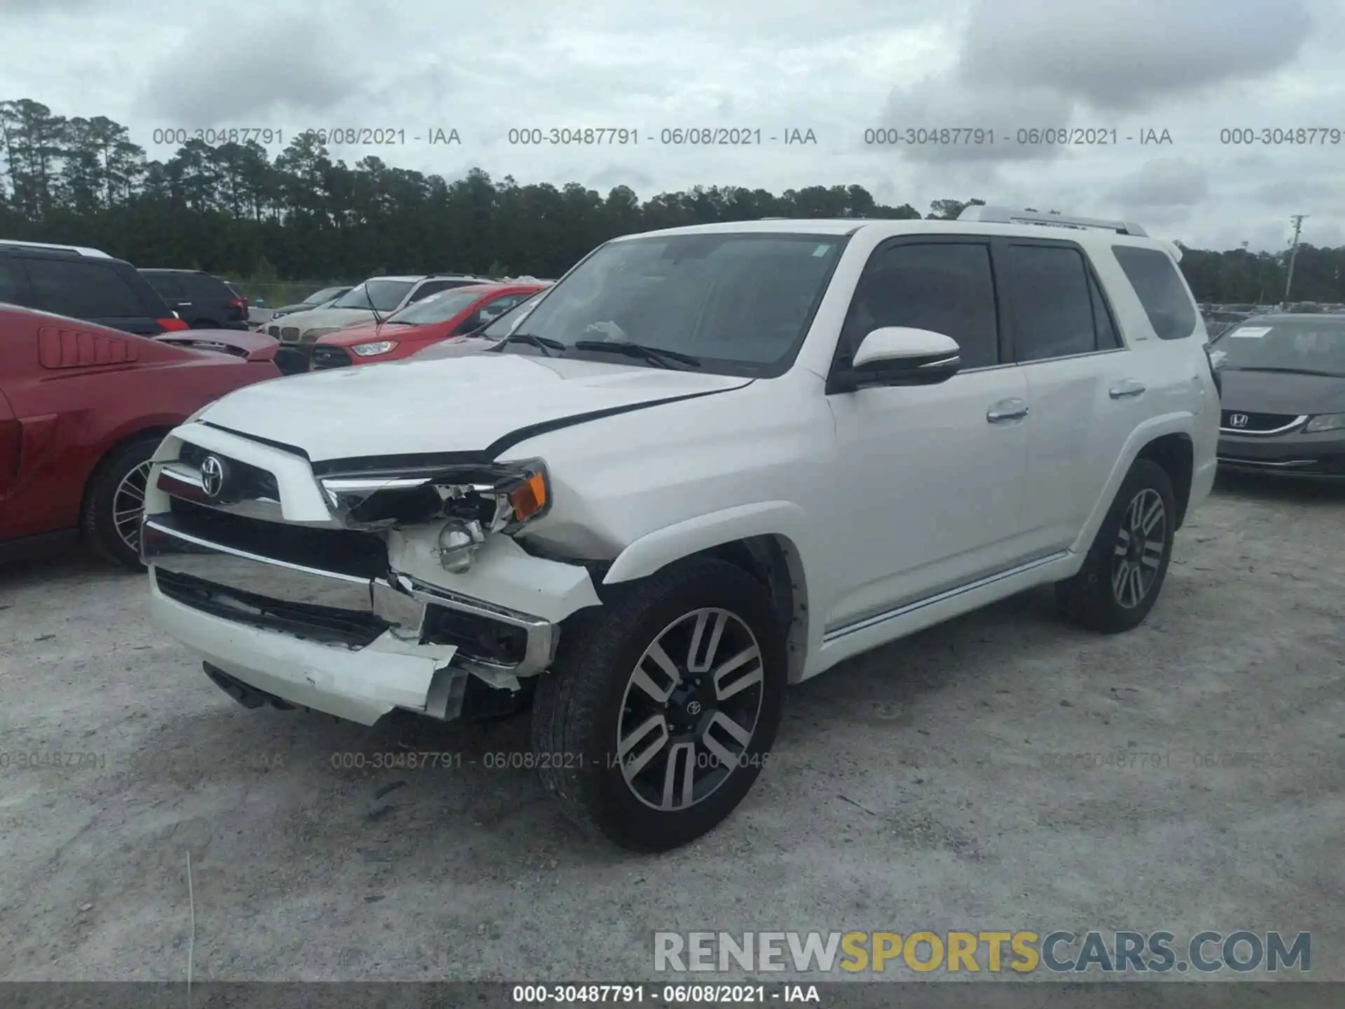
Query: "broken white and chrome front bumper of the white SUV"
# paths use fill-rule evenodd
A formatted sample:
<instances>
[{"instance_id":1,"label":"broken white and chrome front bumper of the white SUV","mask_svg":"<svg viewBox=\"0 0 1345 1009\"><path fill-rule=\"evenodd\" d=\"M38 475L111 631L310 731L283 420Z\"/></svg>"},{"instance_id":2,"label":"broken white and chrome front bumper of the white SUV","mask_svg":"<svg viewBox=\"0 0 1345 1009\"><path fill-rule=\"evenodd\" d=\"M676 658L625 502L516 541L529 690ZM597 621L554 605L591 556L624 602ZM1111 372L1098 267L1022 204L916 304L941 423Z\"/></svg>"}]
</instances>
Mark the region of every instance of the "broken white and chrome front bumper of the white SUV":
<instances>
[{"instance_id":1,"label":"broken white and chrome front bumper of the white SUV","mask_svg":"<svg viewBox=\"0 0 1345 1009\"><path fill-rule=\"evenodd\" d=\"M389 570L386 560L377 573L356 553L315 552L303 542L307 530L282 529L285 550L221 534L227 526L195 527L175 513L148 515L143 525L155 619L241 685L364 725L394 708L451 720L467 713L473 686L518 692L521 678L554 657L555 619ZM472 584L488 584L492 568L518 574L516 545L494 546ZM538 581L562 577L573 583L572 597L597 601L582 568L527 561Z\"/></svg>"}]
</instances>

